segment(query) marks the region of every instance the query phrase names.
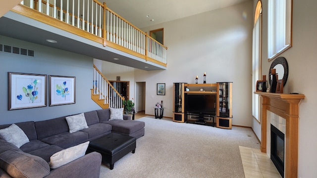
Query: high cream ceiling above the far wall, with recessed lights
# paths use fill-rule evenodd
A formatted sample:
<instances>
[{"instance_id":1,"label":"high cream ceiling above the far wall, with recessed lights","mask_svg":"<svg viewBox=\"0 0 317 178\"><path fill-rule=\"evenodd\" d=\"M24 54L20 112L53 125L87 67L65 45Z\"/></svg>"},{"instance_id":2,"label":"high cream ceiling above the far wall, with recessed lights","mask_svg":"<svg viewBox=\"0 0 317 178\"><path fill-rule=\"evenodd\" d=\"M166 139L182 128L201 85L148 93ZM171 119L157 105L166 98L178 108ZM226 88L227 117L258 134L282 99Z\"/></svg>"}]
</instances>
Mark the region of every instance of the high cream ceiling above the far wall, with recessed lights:
<instances>
[{"instance_id":1,"label":"high cream ceiling above the far wall, with recessed lights","mask_svg":"<svg viewBox=\"0 0 317 178\"><path fill-rule=\"evenodd\" d=\"M138 28L228 7L248 0L100 0ZM147 17L150 15L150 17ZM154 21L151 21L154 19Z\"/></svg>"}]
</instances>

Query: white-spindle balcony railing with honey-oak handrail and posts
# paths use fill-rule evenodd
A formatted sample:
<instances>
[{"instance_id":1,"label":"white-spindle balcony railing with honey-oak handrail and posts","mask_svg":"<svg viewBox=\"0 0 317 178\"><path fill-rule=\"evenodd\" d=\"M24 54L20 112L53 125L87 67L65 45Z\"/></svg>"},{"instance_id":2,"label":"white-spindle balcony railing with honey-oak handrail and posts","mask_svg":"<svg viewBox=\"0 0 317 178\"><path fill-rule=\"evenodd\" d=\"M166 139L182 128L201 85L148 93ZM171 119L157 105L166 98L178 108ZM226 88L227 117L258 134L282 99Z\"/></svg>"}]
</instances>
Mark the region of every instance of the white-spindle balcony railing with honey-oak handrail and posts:
<instances>
[{"instance_id":1,"label":"white-spindle balcony railing with honey-oak handrail and posts","mask_svg":"<svg viewBox=\"0 0 317 178\"><path fill-rule=\"evenodd\" d=\"M23 0L23 6L91 33L107 45L166 67L167 47L97 0ZM32 18L32 16L30 16ZM33 17L34 18L34 17ZM67 30L67 29L62 29Z\"/></svg>"}]
</instances>

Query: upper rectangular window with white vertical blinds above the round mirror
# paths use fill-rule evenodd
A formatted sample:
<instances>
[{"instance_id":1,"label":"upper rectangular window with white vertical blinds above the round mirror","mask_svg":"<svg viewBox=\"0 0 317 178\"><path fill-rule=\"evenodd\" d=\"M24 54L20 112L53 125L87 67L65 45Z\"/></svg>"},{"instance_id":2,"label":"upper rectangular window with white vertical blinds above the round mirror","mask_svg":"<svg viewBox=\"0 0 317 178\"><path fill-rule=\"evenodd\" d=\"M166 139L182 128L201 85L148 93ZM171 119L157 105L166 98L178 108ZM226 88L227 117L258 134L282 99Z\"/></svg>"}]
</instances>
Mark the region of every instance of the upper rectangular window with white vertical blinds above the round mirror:
<instances>
[{"instance_id":1,"label":"upper rectangular window with white vertical blinds above the round mirror","mask_svg":"<svg viewBox=\"0 0 317 178\"><path fill-rule=\"evenodd\" d=\"M267 57L273 59L292 46L292 0L268 0Z\"/></svg>"}]
</instances>

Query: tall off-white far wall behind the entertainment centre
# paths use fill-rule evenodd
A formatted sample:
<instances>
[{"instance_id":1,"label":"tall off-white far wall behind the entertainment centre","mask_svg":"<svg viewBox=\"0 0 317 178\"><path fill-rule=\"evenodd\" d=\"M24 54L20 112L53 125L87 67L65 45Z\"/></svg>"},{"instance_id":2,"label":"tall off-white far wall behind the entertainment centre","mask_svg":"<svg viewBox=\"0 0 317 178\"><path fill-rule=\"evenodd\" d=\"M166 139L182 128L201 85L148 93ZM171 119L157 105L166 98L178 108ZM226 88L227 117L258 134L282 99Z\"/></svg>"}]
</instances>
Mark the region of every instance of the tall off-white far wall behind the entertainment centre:
<instances>
[{"instance_id":1,"label":"tall off-white far wall behind the entertainment centre","mask_svg":"<svg viewBox=\"0 0 317 178\"><path fill-rule=\"evenodd\" d=\"M250 126L253 2L209 11L142 29L164 28L167 70L135 70L136 81L146 81L146 114L163 100L164 116L172 117L173 83L233 82L233 125ZM157 95L165 83L165 95ZM153 98L152 98L153 96Z\"/></svg>"}]
</instances>

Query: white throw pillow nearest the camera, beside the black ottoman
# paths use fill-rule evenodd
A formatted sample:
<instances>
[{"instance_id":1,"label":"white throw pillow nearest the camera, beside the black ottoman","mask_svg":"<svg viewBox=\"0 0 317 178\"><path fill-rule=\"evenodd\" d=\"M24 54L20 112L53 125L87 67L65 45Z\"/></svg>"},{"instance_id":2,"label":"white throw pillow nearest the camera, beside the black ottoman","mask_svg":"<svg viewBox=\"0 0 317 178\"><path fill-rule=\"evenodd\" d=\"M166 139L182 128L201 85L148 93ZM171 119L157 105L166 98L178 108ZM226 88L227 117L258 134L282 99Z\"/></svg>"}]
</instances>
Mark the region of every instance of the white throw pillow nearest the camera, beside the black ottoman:
<instances>
[{"instance_id":1,"label":"white throw pillow nearest the camera, beside the black ottoman","mask_svg":"<svg viewBox=\"0 0 317 178\"><path fill-rule=\"evenodd\" d=\"M56 169L84 156L88 145L89 141L54 153L50 158L50 167Z\"/></svg>"}]
</instances>

